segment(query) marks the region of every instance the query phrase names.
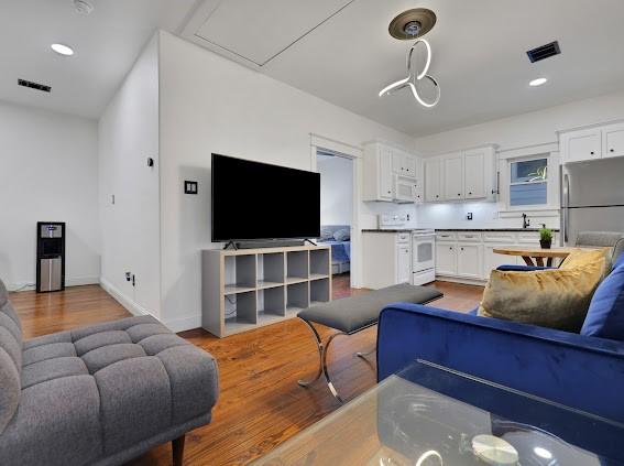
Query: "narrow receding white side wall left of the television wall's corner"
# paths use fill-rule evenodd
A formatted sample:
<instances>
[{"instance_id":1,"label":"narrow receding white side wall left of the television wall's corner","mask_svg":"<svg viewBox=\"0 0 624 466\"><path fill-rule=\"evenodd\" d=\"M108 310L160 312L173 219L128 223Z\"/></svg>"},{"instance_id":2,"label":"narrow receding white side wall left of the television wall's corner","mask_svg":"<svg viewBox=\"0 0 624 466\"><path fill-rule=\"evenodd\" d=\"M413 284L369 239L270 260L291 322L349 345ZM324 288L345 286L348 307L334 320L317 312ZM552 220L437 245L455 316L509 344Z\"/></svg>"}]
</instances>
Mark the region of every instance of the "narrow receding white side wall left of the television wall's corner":
<instances>
[{"instance_id":1,"label":"narrow receding white side wall left of the television wall's corner","mask_svg":"<svg viewBox=\"0 0 624 466\"><path fill-rule=\"evenodd\" d=\"M99 122L101 283L131 312L155 316L161 307L157 39L141 53ZM135 286L125 272L135 275Z\"/></svg>"}]
</instances>

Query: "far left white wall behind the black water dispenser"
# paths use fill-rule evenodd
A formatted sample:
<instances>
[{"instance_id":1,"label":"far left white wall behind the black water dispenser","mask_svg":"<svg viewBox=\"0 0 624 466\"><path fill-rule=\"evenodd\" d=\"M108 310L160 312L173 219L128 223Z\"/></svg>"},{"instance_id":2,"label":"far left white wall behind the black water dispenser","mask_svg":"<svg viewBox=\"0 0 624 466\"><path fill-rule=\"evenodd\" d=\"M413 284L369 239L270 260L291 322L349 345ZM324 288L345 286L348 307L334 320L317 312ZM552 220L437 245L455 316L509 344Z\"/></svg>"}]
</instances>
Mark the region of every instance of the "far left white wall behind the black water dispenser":
<instances>
[{"instance_id":1,"label":"far left white wall behind the black water dispenser","mask_svg":"<svg viewBox=\"0 0 624 466\"><path fill-rule=\"evenodd\" d=\"M66 285L97 283L97 123L0 101L0 278L35 283L36 223L66 221Z\"/></svg>"}]
</instances>

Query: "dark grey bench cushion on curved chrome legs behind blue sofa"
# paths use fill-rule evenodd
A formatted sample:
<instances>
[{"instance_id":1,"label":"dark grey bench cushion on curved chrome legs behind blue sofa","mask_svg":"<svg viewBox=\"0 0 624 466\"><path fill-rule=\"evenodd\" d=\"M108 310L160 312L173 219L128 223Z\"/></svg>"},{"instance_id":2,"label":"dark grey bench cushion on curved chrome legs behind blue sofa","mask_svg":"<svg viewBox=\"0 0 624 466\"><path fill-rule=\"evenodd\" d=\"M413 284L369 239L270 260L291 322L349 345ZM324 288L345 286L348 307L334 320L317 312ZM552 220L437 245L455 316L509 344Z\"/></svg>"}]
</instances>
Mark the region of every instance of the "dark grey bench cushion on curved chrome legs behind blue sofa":
<instances>
[{"instance_id":1,"label":"dark grey bench cushion on curved chrome legs behind blue sofa","mask_svg":"<svg viewBox=\"0 0 624 466\"><path fill-rule=\"evenodd\" d=\"M442 297L442 293L435 288L402 283L359 296L317 304L299 312L297 316L351 334L375 324L381 311L391 303L424 304L439 297Z\"/></svg>"}]
</instances>

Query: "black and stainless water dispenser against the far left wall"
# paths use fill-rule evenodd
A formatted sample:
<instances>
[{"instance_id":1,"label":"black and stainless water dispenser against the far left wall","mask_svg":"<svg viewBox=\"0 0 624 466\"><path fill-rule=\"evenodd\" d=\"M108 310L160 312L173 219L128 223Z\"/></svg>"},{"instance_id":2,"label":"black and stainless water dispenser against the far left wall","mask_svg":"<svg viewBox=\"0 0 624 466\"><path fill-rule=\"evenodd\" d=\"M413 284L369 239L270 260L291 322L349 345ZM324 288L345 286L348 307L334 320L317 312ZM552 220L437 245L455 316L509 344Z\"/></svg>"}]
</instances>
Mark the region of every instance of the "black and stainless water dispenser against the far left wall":
<instances>
[{"instance_id":1,"label":"black and stainless water dispenser against the far left wall","mask_svg":"<svg viewBox=\"0 0 624 466\"><path fill-rule=\"evenodd\" d=\"M65 223L36 224L36 291L65 289Z\"/></svg>"}]
</instances>

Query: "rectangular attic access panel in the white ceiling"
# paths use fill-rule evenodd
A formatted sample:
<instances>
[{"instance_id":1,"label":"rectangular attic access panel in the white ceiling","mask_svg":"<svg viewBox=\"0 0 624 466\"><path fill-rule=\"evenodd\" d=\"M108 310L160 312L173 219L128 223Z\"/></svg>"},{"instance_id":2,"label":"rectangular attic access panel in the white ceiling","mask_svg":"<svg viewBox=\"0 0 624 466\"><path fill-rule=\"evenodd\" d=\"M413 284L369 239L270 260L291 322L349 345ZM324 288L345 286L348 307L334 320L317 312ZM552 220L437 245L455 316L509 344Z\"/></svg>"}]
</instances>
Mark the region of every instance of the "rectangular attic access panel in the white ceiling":
<instances>
[{"instance_id":1,"label":"rectangular attic access panel in the white ceiling","mask_svg":"<svg viewBox=\"0 0 624 466\"><path fill-rule=\"evenodd\" d=\"M261 67L352 2L207 0L188 25L195 29L195 39L210 48ZM198 15L205 19L198 21Z\"/></svg>"}]
</instances>

